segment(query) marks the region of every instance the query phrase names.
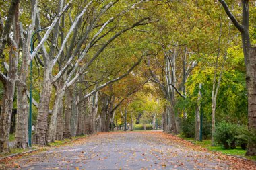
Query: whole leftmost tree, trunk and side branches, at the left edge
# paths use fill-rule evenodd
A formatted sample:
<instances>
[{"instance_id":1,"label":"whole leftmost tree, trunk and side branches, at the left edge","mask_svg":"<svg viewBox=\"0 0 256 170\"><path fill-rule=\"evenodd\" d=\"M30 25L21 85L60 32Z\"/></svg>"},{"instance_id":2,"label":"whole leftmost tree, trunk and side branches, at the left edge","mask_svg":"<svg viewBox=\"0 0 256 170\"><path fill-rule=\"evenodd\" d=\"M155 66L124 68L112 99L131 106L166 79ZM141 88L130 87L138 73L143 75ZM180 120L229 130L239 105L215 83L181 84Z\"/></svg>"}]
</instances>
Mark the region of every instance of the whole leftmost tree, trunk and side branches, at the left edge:
<instances>
[{"instance_id":1,"label":"whole leftmost tree, trunk and side branches, at the left edge","mask_svg":"<svg viewBox=\"0 0 256 170\"><path fill-rule=\"evenodd\" d=\"M9 54L9 66L6 67L7 75L0 71L0 79L4 85L4 95L0 114L0 152L3 153L9 152L9 130L11 127L13 96L15 93L15 83L18 78L17 69L20 38L19 5L19 0L11 1L5 26L0 18L1 30L3 30L3 32L0 32L0 56L2 56L4 50L7 50L7 54ZM13 27L13 37L9 35L11 32L11 26ZM6 44L8 44L7 48Z\"/></svg>"}]
</instances>

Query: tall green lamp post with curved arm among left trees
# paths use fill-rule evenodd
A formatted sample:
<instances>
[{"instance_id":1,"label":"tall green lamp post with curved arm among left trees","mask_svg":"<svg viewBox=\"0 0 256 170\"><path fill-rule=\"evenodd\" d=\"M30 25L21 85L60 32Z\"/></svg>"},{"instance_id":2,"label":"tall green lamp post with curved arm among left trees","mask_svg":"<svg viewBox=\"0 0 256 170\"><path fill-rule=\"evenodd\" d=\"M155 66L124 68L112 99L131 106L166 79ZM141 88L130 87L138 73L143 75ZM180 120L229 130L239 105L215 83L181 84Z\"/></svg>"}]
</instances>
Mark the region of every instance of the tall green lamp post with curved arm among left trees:
<instances>
[{"instance_id":1,"label":"tall green lamp post with curved arm among left trees","mask_svg":"<svg viewBox=\"0 0 256 170\"><path fill-rule=\"evenodd\" d=\"M33 46L34 46L34 36L36 35L36 33L38 32L41 32L43 30L45 30L47 28L42 28L40 30L37 30L36 32L34 32L31 36L31 40L30 40L30 54L33 53ZM30 146L30 148L32 147L32 144L31 144L31 136L32 136L32 68L33 68L33 65L32 65L32 59L30 61L30 105L29 105L29 115L28 115L28 146Z\"/></svg>"}]
</instances>

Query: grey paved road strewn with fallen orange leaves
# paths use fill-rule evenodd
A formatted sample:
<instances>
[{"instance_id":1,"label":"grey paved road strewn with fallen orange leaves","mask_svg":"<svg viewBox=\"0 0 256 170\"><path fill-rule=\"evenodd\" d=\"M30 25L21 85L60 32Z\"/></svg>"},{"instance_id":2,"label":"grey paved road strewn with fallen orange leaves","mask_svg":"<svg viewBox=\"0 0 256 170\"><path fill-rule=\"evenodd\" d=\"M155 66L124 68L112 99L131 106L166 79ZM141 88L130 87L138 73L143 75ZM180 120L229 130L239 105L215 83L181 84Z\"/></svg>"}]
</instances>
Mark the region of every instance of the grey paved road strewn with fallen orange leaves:
<instances>
[{"instance_id":1,"label":"grey paved road strewn with fallen orange leaves","mask_svg":"<svg viewBox=\"0 0 256 170\"><path fill-rule=\"evenodd\" d=\"M225 157L163 132L100 133L16 161L21 169L230 169ZM255 167L256 168L256 167Z\"/></svg>"}]
</instances>

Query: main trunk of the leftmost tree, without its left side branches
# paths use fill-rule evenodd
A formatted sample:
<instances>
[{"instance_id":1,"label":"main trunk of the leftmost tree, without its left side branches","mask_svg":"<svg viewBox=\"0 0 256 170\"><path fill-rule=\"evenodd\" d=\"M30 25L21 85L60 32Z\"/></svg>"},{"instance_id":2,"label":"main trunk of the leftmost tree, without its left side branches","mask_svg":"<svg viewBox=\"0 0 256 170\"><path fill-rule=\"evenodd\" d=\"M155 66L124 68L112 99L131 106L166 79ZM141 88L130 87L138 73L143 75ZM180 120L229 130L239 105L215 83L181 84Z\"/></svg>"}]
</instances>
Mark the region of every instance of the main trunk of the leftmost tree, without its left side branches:
<instances>
[{"instance_id":1,"label":"main trunk of the leftmost tree, without its left side branches","mask_svg":"<svg viewBox=\"0 0 256 170\"><path fill-rule=\"evenodd\" d=\"M13 3L13 2L12 2ZM15 93L15 83L18 78L17 67L19 58L19 4L20 1L14 2L15 14L14 14L14 40L9 50L9 71L4 85L3 99L1 103L1 113L0 113L0 152L9 153L9 131L11 128L11 114L13 110L13 97ZM3 73L0 73L3 74ZM1 75L3 77L3 75Z\"/></svg>"}]
</instances>

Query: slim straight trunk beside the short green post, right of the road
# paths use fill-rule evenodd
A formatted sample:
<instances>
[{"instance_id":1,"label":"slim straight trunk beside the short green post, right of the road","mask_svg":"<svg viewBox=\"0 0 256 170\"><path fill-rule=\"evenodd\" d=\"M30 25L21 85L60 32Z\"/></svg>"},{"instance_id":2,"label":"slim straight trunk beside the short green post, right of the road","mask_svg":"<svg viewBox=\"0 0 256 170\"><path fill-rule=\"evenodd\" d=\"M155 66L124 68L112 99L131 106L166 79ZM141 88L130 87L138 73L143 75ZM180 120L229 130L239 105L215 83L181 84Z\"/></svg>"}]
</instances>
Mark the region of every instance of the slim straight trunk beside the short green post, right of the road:
<instances>
[{"instance_id":1,"label":"slim straight trunk beside the short green post, right of the road","mask_svg":"<svg viewBox=\"0 0 256 170\"><path fill-rule=\"evenodd\" d=\"M199 92L198 92L198 98L197 98L197 106L195 109L195 140L200 140L200 104L201 100L201 83L199 84Z\"/></svg>"}]
</instances>

